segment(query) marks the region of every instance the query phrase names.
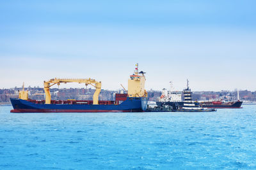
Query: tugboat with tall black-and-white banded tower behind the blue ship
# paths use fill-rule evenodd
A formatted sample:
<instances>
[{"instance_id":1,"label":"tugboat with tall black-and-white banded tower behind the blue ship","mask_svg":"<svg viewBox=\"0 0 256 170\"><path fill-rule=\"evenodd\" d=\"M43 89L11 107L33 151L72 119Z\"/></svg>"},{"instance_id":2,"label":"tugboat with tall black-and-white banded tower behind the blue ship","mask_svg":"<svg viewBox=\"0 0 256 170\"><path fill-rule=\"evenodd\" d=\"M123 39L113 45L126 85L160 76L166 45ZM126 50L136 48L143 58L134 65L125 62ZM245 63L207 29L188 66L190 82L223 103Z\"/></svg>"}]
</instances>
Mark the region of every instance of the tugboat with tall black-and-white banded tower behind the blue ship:
<instances>
[{"instance_id":1,"label":"tugboat with tall black-and-white banded tower behind the blue ship","mask_svg":"<svg viewBox=\"0 0 256 170\"><path fill-rule=\"evenodd\" d=\"M187 80L187 88L183 90L184 104L179 107L177 111L191 111L191 112L207 112L216 111L214 108L202 108L198 102L193 102L191 99L191 89L189 89L189 81Z\"/></svg>"}]
</instances>

